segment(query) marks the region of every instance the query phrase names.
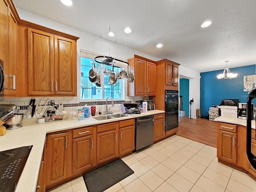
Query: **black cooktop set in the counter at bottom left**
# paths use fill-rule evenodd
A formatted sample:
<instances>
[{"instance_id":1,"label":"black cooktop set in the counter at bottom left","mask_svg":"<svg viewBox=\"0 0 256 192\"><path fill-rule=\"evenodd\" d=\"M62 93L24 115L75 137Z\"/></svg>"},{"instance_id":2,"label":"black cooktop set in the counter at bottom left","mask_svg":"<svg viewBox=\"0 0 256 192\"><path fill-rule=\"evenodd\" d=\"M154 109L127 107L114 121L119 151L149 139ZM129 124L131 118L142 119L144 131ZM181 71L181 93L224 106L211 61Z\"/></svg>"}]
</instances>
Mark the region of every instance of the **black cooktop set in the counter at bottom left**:
<instances>
[{"instance_id":1,"label":"black cooktop set in the counter at bottom left","mask_svg":"<svg viewBox=\"0 0 256 192\"><path fill-rule=\"evenodd\" d=\"M0 192L14 192L26 164L31 146L0 152Z\"/></svg>"}]
</instances>

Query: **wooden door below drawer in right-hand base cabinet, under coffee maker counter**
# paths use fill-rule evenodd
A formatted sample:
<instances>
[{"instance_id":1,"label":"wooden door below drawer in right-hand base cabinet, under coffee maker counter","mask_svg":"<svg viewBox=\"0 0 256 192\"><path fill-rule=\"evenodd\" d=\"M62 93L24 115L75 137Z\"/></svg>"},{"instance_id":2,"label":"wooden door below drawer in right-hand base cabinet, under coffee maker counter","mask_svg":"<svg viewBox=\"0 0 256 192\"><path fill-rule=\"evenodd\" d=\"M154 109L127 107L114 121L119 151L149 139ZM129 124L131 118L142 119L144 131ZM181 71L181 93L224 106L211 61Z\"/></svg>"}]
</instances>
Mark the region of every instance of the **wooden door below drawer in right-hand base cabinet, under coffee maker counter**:
<instances>
[{"instance_id":1,"label":"wooden door below drawer in right-hand base cabinet, under coffee maker counter","mask_svg":"<svg viewBox=\"0 0 256 192\"><path fill-rule=\"evenodd\" d=\"M217 157L236 164L237 134L219 130L217 140Z\"/></svg>"}]
</instances>

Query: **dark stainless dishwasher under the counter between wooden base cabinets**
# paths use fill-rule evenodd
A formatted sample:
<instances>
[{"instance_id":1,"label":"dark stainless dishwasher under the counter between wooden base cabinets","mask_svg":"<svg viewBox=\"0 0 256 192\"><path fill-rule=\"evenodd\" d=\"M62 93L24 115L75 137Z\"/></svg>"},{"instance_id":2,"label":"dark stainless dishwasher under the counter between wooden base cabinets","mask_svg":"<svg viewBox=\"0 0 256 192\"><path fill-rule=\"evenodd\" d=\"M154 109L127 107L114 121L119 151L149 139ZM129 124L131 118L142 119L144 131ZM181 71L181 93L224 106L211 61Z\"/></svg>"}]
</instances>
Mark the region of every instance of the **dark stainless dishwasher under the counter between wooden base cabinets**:
<instances>
[{"instance_id":1,"label":"dark stainless dishwasher under the counter between wooden base cabinets","mask_svg":"<svg viewBox=\"0 0 256 192\"><path fill-rule=\"evenodd\" d=\"M135 151L154 143L154 116L136 118Z\"/></svg>"}]
</instances>

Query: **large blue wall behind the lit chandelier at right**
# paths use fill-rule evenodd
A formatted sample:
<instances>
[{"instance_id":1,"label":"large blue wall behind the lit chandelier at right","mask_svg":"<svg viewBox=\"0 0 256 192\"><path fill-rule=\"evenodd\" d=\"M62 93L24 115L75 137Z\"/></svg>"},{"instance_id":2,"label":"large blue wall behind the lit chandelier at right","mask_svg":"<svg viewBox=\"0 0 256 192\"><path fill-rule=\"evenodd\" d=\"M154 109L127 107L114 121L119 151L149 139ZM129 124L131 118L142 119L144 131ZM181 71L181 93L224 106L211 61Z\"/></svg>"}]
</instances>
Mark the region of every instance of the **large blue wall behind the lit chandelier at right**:
<instances>
[{"instance_id":1,"label":"large blue wall behind the lit chandelier at right","mask_svg":"<svg viewBox=\"0 0 256 192\"><path fill-rule=\"evenodd\" d=\"M201 116L208 116L209 107L212 104L220 105L223 99L239 99L239 102L245 103L247 101L244 76L255 75L255 65L230 68L230 72L238 74L234 79L217 79L217 75L223 70L200 73Z\"/></svg>"}]
</instances>

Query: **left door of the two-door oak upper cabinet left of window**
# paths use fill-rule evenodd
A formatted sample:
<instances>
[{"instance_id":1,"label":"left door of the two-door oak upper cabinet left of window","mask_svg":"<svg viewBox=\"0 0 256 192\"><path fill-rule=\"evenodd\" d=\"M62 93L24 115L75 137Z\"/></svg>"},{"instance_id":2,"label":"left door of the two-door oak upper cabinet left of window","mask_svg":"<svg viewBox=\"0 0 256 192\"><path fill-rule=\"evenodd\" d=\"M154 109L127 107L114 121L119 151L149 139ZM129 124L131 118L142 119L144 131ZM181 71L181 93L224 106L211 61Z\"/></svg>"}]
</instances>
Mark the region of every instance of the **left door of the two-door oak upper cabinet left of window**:
<instances>
[{"instance_id":1,"label":"left door of the two-door oak upper cabinet left of window","mask_svg":"<svg viewBox=\"0 0 256 192\"><path fill-rule=\"evenodd\" d=\"M54 36L28 28L28 94L53 95Z\"/></svg>"}]
</instances>

